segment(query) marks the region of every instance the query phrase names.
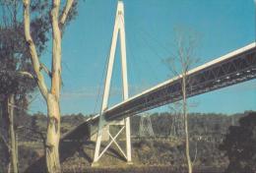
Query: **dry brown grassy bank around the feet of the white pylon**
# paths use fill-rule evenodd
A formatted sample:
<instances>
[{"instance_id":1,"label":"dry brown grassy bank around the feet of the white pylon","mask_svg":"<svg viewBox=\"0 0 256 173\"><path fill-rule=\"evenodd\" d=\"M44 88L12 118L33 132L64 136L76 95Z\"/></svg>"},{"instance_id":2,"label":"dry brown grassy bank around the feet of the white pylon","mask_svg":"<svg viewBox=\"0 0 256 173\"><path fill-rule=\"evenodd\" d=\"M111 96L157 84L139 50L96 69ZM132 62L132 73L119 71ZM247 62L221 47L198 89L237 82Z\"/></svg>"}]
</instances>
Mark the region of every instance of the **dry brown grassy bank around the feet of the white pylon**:
<instances>
[{"instance_id":1,"label":"dry brown grassy bank around the feet of the white pylon","mask_svg":"<svg viewBox=\"0 0 256 173\"><path fill-rule=\"evenodd\" d=\"M119 142L125 148L124 142ZM106 145L106 144L102 144ZM99 159L98 167L92 168L95 144L83 144L77 151L62 162L63 172L89 172L89 173L153 173L153 172L186 172L183 147L177 141L140 141L132 143L132 165L126 163L125 158L115 145L112 145ZM101 148L102 149L102 148ZM198 151L201 152L201 151ZM204 154L204 153L202 153ZM200 155L200 154L199 154ZM211 157L208 155L208 157ZM194 159L193 159L194 160ZM213 158L214 160L214 158ZM195 172L222 172L225 164L220 162L202 163L194 160Z\"/></svg>"}]
</instances>

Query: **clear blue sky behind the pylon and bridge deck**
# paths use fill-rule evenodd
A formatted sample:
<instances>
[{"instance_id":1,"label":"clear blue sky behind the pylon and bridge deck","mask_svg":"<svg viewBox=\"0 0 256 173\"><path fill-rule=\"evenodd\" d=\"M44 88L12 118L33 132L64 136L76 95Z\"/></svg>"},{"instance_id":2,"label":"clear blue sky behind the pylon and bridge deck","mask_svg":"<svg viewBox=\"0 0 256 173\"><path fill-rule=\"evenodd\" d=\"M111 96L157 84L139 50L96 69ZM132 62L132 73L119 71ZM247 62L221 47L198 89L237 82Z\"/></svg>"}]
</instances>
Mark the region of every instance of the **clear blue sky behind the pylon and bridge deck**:
<instances>
[{"instance_id":1,"label":"clear blue sky behind the pylon and bridge deck","mask_svg":"<svg viewBox=\"0 0 256 173\"><path fill-rule=\"evenodd\" d=\"M99 110L116 4L117 0L81 1L78 17L65 30L62 114L89 114ZM169 78L170 72L162 59L174 51L171 46L174 28L192 29L198 33L196 52L201 58L198 65L255 40L253 0L124 0L124 5L130 95ZM110 105L121 100L118 48ZM49 65L50 54L46 52L41 60ZM225 87L189 100L198 103L197 107L190 108L193 112L230 114L256 110L256 81ZM40 96L32 102L30 109L32 112L46 111ZM166 106L154 111L164 110L167 110Z\"/></svg>"}]
</instances>

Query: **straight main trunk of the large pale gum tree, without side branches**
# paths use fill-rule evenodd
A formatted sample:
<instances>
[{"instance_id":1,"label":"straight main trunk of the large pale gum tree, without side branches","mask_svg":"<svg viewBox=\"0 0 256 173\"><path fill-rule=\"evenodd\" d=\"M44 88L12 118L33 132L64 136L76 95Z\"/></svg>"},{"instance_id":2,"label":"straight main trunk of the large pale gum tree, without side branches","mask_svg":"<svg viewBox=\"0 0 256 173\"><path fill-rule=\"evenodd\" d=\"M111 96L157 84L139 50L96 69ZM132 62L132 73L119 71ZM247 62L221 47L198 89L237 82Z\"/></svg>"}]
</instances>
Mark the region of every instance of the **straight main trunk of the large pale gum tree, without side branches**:
<instances>
[{"instance_id":1,"label":"straight main trunk of the large pale gum tree, without side branches","mask_svg":"<svg viewBox=\"0 0 256 173\"><path fill-rule=\"evenodd\" d=\"M52 1L52 72L51 90L47 95L48 125L46 136L46 163L50 173L60 172L59 140L60 140L60 86L61 86L61 32L59 28L60 0Z\"/></svg>"}]
</instances>

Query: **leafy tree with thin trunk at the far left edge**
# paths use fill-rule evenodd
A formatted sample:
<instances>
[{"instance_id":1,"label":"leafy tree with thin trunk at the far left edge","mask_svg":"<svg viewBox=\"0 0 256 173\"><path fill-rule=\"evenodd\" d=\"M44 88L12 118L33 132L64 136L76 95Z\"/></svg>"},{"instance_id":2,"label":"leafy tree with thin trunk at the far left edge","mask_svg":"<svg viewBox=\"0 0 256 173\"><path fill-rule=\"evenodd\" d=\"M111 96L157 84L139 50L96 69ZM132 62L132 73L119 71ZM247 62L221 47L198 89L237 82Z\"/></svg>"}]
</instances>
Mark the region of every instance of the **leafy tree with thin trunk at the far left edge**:
<instances>
[{"instance_id":1,"label":"leafy tree with thin trunk at the far left edge","mask_svg":"<svg viewBox=\"0 0 256 173\"><path fill-rule=\"evenodd\" d=\"M28 72L32 73L32 68L28 61L29 54L23 36L22 18L19 18L21 5L18 0L0 1L1 138L9 150L7 161L11 166L8 166L8 169L15 173L18 172L18 142L15 132L18 122L14 122L14 113L15 115L25 113L24 110L29 103L28 93L35 87L35 83L26 76ZM33 24L36 28L40 28L40 31L34 32L33 36L36 37L36 44L42 52L47 40L45 36L47 29L39 21L33 21Z\"/></svg>"}]
</instances>

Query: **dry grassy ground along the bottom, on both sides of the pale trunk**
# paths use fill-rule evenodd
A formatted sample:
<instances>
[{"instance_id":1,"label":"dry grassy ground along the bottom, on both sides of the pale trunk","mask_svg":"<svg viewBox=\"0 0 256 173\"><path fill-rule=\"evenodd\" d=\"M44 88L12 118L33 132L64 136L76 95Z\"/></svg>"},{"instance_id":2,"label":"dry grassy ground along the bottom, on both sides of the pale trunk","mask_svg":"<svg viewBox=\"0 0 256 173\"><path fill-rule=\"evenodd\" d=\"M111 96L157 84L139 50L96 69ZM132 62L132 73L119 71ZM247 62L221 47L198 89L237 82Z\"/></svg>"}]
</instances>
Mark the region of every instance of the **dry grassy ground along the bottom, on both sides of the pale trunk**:
<instances>
[{"instance_id":1,"label":"dry grassy ground along the bottom, on both sides of the pale trunk","mask_svg":"<svg viewBox=\"0 0 256 173\"><path fill-rule=\"evenodd\" d=\"M101 150L106 144L107 143L101 144ZM122 148L125 148L124 141L120 140L118 144L120 144ZM96 146L94 142L72 142L64 146L65 147L60 152L61 167L62 171L66 173L186 172L184 143L177 139L171 139L170 141L132 141L132 165L126 163L125 157L118 148L112 144L99 159L98 167L94 168L91 166ZM196 151L195 146L198 146L200 149ZM24 143L21 144L20 147L26 148L27 152L25 153L28 153L28 150L33 150L34 152L30 154L32 155L30 158L28 158L26 154L20 154L20 160L24 160L23 158L29 160L29 162L21 162L20 170L25 170L25 167L29 166L29 164L43 154L41 144ZM194 142L191 142L191 158L197 170L195 172L200 173L221 172L227 165L226 158L218 149L218 145L213 145L211 142L198 142L196 145ZM44 158L42 158L42 160L44 160ZM38 165L34 168L35 169L28 172L31 173L34 170L38 170Z\"/></svg>"}]
</instances>

